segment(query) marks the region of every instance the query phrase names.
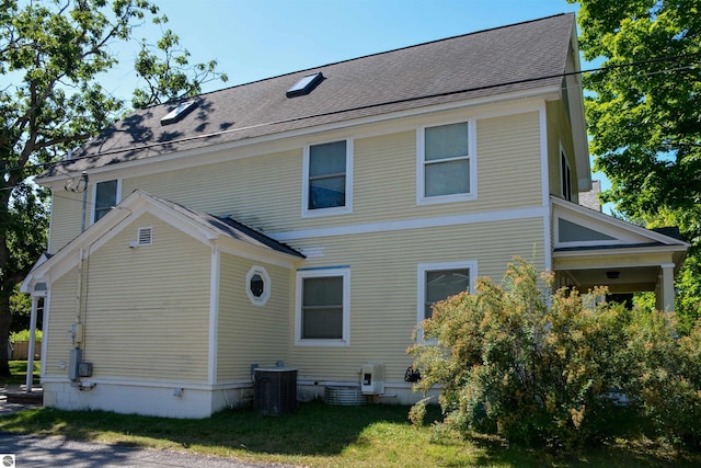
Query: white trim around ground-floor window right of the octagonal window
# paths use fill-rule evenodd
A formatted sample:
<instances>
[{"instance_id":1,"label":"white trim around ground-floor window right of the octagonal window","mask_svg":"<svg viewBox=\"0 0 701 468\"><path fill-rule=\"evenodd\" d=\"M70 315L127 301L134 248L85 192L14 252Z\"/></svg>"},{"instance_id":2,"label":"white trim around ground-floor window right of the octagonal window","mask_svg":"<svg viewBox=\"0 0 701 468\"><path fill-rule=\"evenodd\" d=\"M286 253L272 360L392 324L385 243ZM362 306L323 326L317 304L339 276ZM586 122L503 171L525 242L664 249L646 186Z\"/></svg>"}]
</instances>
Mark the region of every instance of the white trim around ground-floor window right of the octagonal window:
<instances>
[{"instance_id":1,"label":"white trim around ground-floor window right of the octagonal window","mask_svg":"<svg viewBox=\"0 0 701 468\"><path fill-rule=\"evenodd\" d=\"M302 339L302 283L311 277L343 277L343 330L340 340ZM297 346L349 346L350 345L350 269L329 267L298 270L295 285L295 344Z\"/></svg>"}]
</instances>

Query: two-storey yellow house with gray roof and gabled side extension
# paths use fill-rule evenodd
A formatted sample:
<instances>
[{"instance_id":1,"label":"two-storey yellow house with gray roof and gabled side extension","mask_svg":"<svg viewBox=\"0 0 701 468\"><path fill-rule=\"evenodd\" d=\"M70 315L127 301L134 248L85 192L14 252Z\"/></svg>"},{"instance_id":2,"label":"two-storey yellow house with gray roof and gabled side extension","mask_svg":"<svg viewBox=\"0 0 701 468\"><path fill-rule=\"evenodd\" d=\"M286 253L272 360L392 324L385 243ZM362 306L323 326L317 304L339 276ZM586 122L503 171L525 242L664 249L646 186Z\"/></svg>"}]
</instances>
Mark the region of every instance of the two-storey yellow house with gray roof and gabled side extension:
<instances>
[{"instance_id":1,"label":"two-storey yellow house with gray roof and gabled side extension","mask_svg":"<svg viewBox=\"0 0 701 468\"><path fill-rule=\"evenodd\" d=\"M256 367L295 368L300 400L412 402L413 330L514 255L673 309L688 244L577 203L578 71L562 14L117 122L37 179L45 404L207 416L251 402Z\"/></svg>"}]
</instances>

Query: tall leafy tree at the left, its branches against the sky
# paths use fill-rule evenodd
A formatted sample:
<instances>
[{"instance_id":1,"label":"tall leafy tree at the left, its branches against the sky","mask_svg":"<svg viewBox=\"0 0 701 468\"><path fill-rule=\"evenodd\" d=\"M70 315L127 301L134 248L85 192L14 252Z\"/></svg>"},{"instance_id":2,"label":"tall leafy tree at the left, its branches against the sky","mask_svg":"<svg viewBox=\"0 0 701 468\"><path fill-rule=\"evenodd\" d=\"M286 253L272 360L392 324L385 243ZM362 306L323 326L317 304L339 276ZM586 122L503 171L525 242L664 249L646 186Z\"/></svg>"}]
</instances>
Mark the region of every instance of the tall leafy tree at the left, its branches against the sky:
<instances>
[{"instance_id":1,"label":"tall leafy tree at the left, its branches against the sky","mask_svg":"<svg viewBox=\"0 0 701 468\"><path fill-rule=\"evenodd\" d=\"M0 89L0 376L10 373L10 296L46 241L48 194L30 178L125 112L99 80L118 61L112 46L134 39L145 18L166 21L157 14L148 0L0 0L0 75L8 83ZM197 92L212 77L226 80L214 61L188 69L177 36L169 30L164 37L156 52L141 43L139 57L149 60L137 71L148 91L137 92L136 104Z\"/></svg>"}]
</instances>

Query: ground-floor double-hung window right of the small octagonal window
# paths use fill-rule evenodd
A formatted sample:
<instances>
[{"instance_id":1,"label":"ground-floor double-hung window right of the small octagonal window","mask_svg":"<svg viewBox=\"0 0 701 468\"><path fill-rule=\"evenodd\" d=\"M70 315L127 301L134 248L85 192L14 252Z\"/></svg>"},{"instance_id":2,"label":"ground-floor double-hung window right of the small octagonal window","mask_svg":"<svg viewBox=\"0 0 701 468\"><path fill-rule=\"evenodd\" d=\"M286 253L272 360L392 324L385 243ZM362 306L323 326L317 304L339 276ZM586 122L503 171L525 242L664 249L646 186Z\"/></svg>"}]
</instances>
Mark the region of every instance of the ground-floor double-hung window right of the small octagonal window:
<instances>
[{"instance_id":1,"label":"ground-floor double-hung window right of the small octagonal window","mask_svg":"<svg viewBox=\"0 0 701 468\"><path fill-rule=\"evenodd\" d=\"M296 343L347 346L350 329L350 270L300 270L297 272L296 289Z\"/></svg>"}]
</instances>

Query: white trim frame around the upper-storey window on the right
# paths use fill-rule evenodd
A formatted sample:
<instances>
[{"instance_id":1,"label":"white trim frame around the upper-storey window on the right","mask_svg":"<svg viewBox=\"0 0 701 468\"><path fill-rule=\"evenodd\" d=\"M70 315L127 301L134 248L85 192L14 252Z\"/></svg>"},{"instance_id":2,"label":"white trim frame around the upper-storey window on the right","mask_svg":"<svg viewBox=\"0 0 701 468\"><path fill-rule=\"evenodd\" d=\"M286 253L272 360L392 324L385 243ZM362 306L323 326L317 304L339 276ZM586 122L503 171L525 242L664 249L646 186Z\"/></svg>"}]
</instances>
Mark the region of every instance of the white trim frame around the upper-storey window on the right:
<instances>
[{"instance_id":1,"label":"white trim frame around the upper-storey window on the right","mask_svg":"<svg viewBox=\"0 0 701 468\"><path fill-rule=\"evenodd\" d=\"M425 152L426 152L426 128L441 127L450 124L468 124L468 155L467 159L470 164L470 192L452 195L426 196L426 171L425 171ZM416 130L416 204L433 205L438 203L468 202L478 199L478 145L476 145L476 123L474 118L461 118L438 124L421 125ZM457 158L456 158L457 159Z\"/></svg>"}]
</instances>

